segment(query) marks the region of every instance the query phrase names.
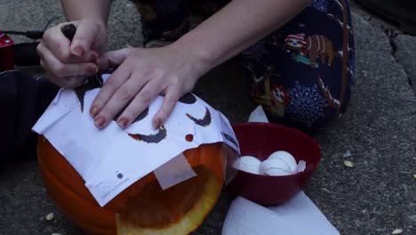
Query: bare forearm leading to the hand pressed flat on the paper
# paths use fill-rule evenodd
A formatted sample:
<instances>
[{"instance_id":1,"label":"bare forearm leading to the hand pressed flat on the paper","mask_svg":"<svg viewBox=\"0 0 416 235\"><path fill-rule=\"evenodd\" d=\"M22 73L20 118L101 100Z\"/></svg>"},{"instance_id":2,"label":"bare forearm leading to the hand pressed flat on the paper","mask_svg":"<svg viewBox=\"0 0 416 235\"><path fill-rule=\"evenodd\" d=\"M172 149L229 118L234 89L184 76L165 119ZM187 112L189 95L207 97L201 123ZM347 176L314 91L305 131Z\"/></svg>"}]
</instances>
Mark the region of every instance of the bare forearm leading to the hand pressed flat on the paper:
<instances>
[{"instance_id":1,"label":"bare forearm leading to the hand pressed flat on the paper","mask_svg":"<svg viewBox=\"0 0 416 235\"><path fill-rule=\"evenodd\" d=\"M310 3L310 0L234 0L182 36L176 46L186 48L204 61L207 69L212 69L283 26Z\"/></svg>"}]
</instances>

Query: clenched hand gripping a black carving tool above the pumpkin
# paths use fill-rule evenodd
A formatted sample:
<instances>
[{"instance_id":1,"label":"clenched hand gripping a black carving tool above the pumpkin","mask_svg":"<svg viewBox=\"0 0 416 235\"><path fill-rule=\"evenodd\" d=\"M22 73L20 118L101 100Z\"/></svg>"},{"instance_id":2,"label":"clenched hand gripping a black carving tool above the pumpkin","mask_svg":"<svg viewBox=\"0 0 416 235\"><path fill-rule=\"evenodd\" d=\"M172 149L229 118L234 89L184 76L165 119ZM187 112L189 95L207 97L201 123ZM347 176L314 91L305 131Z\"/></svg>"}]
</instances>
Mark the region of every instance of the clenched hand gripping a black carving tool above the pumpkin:
<instances>
[{"instance_id":1,"label":"clenched hand gripping a black carving tool above the pumpkin","mask_svg":"<svg viewBox=\"0 0 416 235\"><path fill-rule=\"evenodd\" d=\"M72 42L60 31L73 23L76 35ZM75 87L84 83L85 77L98 72L96 65L107 45L107 30L104 24L94 20L76 20L62 23L44 32L37 46L48 79L55 85Z\"/></svg>"}]
</instances>

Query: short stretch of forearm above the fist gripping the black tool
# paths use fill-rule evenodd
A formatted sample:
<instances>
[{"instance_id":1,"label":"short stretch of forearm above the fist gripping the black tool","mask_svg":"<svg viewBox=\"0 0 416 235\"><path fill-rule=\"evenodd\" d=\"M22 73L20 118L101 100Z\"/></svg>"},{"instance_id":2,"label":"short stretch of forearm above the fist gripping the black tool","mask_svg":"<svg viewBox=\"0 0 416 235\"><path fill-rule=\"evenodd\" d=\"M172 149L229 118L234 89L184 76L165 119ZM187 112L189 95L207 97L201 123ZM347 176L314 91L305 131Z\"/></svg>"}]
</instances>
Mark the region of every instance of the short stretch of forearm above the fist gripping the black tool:
<instances>
[{"instance_id":1,"label":"short stretch of forearm above the fist gripping the black tool","mask_svg":"<svg viewBox=\"0 0 416 235\"><path fill-rule=\"evenodd\" d=\"M111 0L61 0L68 21L90 19L107 26Z\"/></svg>"}]
</instances>

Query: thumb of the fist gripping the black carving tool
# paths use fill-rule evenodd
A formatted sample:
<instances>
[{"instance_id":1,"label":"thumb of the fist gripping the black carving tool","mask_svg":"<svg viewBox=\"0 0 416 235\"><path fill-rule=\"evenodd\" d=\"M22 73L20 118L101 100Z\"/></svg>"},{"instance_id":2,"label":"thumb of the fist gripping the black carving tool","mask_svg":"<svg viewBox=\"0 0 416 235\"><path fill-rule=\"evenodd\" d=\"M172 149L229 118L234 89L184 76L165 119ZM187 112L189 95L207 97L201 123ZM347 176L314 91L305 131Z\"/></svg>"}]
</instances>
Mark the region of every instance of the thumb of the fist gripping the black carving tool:
<instances>
[{"instance_id":1,"label":"thumb of the fist gripping the black carving tool","mask_svg":"<svg viewBox=\"0 0 416 235\"><path fill-rule=\"evenodd\" d=\"M83 57L92 48L92 43L100 36L101 25L93 20L81 20L72 39L71 53Z\"/></svg>"}]
</instances>

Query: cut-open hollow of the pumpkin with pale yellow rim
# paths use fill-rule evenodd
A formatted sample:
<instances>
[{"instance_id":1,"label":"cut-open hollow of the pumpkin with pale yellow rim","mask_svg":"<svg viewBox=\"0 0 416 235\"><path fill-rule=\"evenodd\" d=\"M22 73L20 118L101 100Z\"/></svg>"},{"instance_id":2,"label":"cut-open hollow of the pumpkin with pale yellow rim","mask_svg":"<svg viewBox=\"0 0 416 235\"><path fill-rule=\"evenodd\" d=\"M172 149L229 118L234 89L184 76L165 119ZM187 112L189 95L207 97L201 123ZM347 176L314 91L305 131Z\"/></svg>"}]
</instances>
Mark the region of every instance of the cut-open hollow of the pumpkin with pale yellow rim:
<instances>
[{"instance_id":1,"label":"cut-open hollow of the pumpkin with pale yellow rim","mask_svg":"<svg viewBox=\"0 0 416 235\"><path fill-rule=\"evenodd\" d=\"M222 181L204 166L196 176L170 189L150 183L134 199L129 199L117 214L117 233L188 234L210 213L220 196Z\"/></svg>"}]
</instances>

